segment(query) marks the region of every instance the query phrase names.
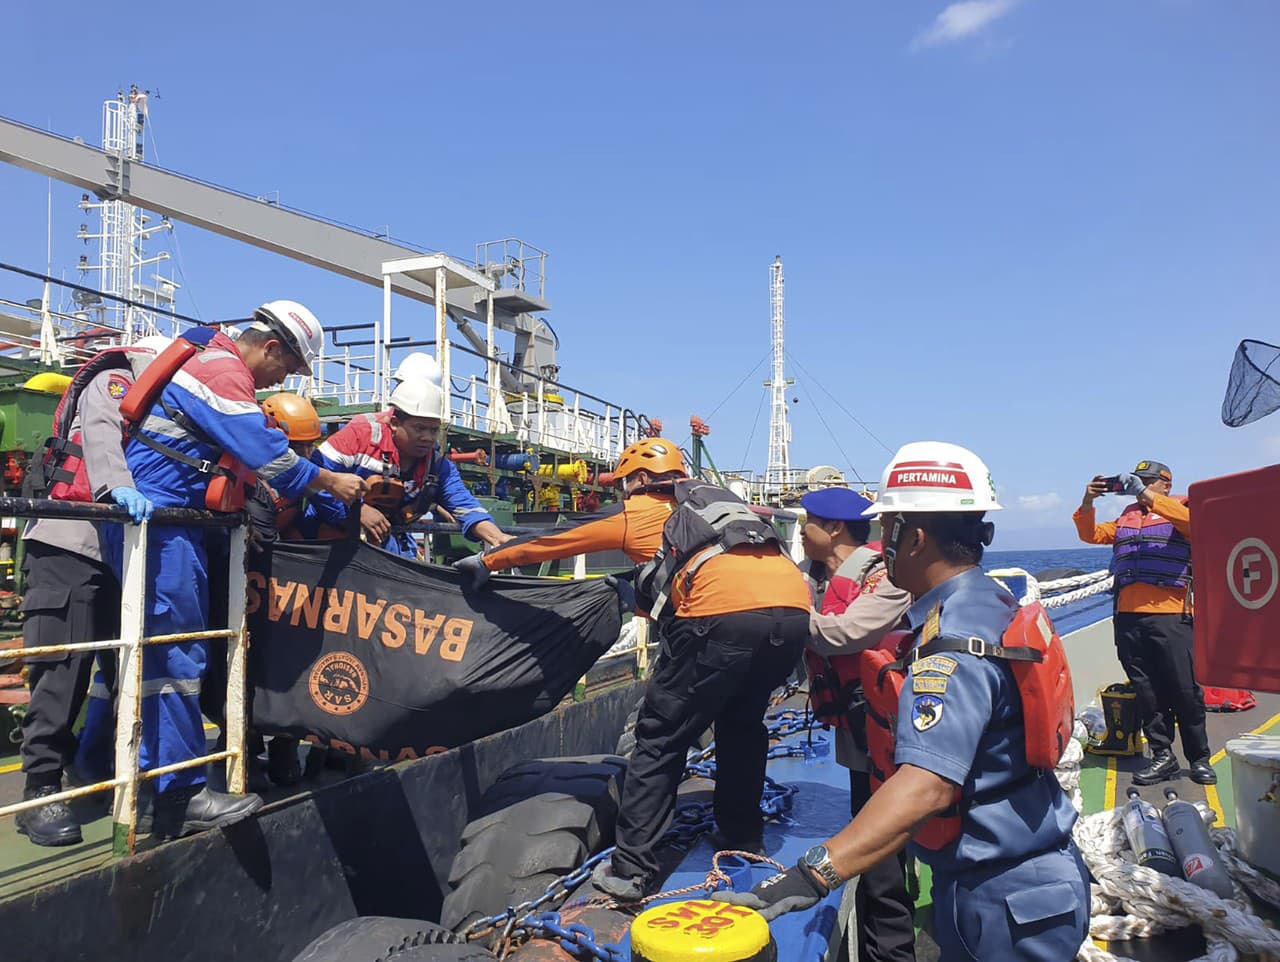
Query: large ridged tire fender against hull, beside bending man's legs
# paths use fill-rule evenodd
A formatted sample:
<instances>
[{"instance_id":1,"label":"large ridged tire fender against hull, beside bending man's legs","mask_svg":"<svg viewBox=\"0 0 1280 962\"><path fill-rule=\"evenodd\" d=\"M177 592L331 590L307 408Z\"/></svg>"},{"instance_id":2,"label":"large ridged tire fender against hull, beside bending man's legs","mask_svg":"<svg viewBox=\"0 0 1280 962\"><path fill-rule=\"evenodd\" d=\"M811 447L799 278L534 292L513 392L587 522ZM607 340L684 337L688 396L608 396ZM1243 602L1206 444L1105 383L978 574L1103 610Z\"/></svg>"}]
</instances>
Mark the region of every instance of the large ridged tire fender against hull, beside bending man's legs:
<instances>
[{"instance_id":1,"label":"large ridged tire fender against hull, beside bending man's legs","mask_svg":"<svg viewBox=\"0 0 1280 962\"><path fill-rule=\"evenodd\" d=\"M461 931L536 898L613 844L625 771L611 755L540 759L504 771L462 832L440 921Z\"/></svg>"}]
</instances>

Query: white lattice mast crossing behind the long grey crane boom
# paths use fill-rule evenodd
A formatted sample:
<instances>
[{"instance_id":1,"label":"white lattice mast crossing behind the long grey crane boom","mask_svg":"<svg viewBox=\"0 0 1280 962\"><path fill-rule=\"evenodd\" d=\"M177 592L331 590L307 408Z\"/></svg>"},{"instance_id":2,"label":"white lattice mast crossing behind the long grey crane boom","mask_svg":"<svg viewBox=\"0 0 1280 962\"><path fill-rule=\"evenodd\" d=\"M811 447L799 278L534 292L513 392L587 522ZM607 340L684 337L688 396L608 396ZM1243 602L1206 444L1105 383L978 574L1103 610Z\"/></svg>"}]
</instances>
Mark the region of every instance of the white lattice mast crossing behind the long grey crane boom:
<instances>
[{"instance_id":1,"label":"white lattice mast crossing behind the long grey crane boom","mask_svg":"<svg viewBox=\"0 0 1280 962\"><path fill-rule=\"evenodd\" d=\"M143 162L143 130L147 120L147 92L140 92L134 84L128 96L120 91L115 100L102 104L102 152L108 155L108 162L116 170L127 170L129 164ZM88 233L88 225L82 224L78 237L88 243L97 240L99 262L91 265L88 257L81 257L81 274L96 271L99 274L97 288L104 294L115 294L131 301L138 301L155 307L173 308L174 294L178 285L169 278L152 274L154 285L142 280L145 267L169 260L169 252L161 251L154 257L147 257L143 244L159 230L173 230L173 224L168 217L161 217L160 223L150 226L151 215L134 207L127 200L108 198L99 203L90 201L88 194L81 197L79 209L82 211L97 211L100 219L99 233ZM102 327L111 329L119 334L122 344L156 334L156 316L132 304L122 304L115 301L91 303L86 298L78 298L82 307L92 307L97 313L97 322ZM168 327L168 325L165 325Z\"/></svg>"}]
</instances>

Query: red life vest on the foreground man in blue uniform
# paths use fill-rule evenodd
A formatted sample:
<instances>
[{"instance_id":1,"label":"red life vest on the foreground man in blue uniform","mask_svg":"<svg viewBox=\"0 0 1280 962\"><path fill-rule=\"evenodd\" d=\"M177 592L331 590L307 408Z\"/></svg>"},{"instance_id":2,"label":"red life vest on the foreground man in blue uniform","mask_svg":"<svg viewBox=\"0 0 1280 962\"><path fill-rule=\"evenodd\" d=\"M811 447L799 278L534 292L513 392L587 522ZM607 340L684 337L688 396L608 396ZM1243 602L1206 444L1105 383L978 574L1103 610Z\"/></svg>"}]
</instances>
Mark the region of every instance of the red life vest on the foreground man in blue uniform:
<instances>
[{"instance_id":1,"label":"red life vest on the foreground man in blue uniform","mask_svg":"<svg viewBox=\"0 0 1280 962\"><path fill-rule=\"evenodd\" d=\"M1005 628L1000 645L987 645L982 638L940 636L919 647L908 650L913 632L893 632L895 651L872 649L861 655L861 672L867 696L867 748L872 759L872 791L879 788L897 770L893 748L897 736L897 706L910 666L923 658L948 651L968 652L978 658L1002 658L1010 663L1018 693L1021 697L1023 732L1027 765L1052 770L1057 766L1075 724L1075 696L1071 691L1071 669L1066 664L1062 640L1039 603L1020 608ZM1019 783L1014 783L1019 784ZM995 793L1006 793L1014 784L1000 785ZM998 797L996 794L992 797ZM979 801L965 798L956 788L951 805L929 819L915 835L915 842L938 851L960 838L960 816L966 805Z\"/></svg>"}]
</instances>

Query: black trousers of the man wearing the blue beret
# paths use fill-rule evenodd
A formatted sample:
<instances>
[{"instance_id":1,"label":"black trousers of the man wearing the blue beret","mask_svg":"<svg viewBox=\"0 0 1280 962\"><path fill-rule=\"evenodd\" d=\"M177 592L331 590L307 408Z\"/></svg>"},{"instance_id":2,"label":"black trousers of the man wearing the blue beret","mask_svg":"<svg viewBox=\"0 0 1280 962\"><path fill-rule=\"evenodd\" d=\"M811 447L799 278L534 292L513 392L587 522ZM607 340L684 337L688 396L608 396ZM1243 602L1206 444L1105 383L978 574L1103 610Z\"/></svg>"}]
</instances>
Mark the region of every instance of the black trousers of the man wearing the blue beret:
<instances>
[{"instance_id":1,"label":"black trousers of the man wearing the blue beret","mask_svg":"<svg viewBox=\"0 0 1280 962\"><path fill-rule=\"evenodd\" d=\"M850 815L856 817L870 797L870 775L850 771ZM859 962L915 962L915 906L906 890L906 852L864 871L854 899Z\"/></svg>"}]
</instances>

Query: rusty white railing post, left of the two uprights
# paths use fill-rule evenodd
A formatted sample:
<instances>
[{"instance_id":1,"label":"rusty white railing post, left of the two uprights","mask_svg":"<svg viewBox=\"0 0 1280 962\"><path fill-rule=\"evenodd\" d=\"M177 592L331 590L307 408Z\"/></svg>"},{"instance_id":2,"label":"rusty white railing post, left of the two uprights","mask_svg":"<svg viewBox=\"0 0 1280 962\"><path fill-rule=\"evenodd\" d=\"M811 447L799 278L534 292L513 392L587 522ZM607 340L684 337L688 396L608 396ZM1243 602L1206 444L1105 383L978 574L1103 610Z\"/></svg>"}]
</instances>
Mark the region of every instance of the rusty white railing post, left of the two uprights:
<instances>
[{"instance_id":1,"label":"rusty white railing post, left of the two uprights","mask_svg":"<svg viewBox=\"0 0 1280 962\"><path fill-rule=\"evenodd\" d=\"M133 855L138 832L138 747L142 739L142 638L147 608L147 522L124 526L120 580L119 696L115 720L115 777L111 853Z\"/></svg>"}]
</instances>

